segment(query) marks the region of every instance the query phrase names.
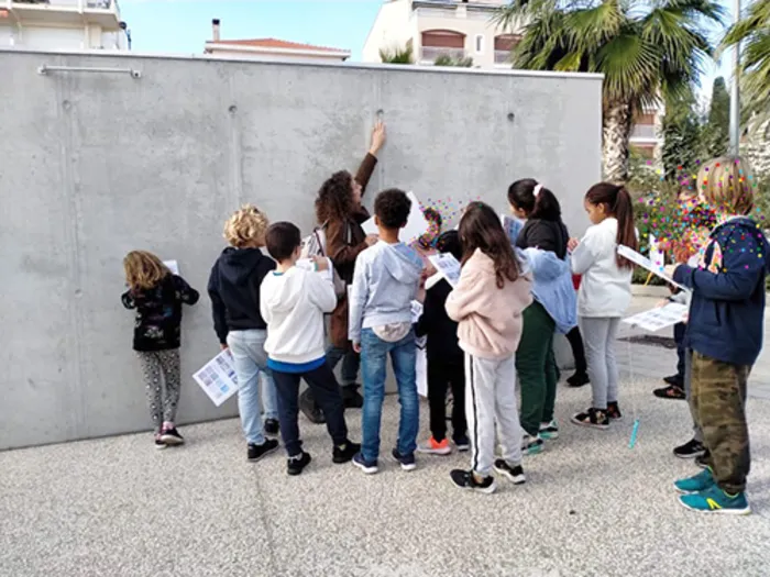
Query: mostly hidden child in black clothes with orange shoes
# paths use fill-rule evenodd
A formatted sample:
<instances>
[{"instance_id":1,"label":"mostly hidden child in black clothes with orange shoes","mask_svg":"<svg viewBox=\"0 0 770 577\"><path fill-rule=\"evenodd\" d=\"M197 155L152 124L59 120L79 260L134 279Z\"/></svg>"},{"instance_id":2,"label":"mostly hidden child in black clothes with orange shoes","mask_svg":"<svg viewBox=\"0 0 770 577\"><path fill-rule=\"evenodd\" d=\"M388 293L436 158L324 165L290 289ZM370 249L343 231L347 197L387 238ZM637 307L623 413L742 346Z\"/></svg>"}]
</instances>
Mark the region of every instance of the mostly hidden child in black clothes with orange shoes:
<instances>
[{"instance_id":1,"label":"mostly hidden child in black clothes with orange shoes","mask_svg":"<svg viewBox=\"0 0 770 577\"><path fill-rule=\"evenodd\" d=\"M439 253L450 253L462 259L462 245L458 231L447 231L439 236ZM422 317L415 326L417 336L428 336L428 403L430 406L430 439L417 447L420 453L449 455L452 447L447 439L447 385L452 387L452 429L458 451L468 451L468 422L465 421L465 370L463 353L458 344L458 323L447 315L447 297L451 285L436 273L426 281Z\"/></svg>"}]
</instances>

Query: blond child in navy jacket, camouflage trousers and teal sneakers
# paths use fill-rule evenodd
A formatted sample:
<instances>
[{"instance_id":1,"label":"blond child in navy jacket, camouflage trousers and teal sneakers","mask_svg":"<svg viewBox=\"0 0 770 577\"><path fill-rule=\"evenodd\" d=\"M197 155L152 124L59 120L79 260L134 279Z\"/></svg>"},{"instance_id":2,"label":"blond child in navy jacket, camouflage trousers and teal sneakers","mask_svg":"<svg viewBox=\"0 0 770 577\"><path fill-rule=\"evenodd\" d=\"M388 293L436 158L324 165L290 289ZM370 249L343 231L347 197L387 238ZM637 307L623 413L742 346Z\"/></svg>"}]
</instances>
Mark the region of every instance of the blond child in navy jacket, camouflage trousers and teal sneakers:
<instances>
[{"instance_id":1,"label":"blond child in navy jacket, camouflage trousers and teal sneakers","mask_svg":"<svg viewBox=\"0 0 770 577\"><path fill-rule=\"evenodd\" d=\"M692 289L684 344L691 356L690 407L703 432L706 468L674 484L680 502L700 512L747 514L750 467L746 387L762 347L765 277L770 245L747 214L754 208L748 165L716 158L697 177L701 200L715 211L697 267L669 265Z\"/></svg>"}]
</instances>

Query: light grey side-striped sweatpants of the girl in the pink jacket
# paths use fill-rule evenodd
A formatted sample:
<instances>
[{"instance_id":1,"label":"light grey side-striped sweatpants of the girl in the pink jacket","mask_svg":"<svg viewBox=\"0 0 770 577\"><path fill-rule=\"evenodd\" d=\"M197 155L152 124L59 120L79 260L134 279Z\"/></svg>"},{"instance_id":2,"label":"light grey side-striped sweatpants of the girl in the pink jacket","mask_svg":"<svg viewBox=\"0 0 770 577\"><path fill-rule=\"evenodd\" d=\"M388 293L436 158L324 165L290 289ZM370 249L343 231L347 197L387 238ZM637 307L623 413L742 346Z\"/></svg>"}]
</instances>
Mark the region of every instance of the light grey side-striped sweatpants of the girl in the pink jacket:
<instances>
[{"instance_id":1,"label":"light grey side-striped sweatpants of the girl in the pink jacket","mask_svg":"<svg viewBox=\"0 0 770 577\"><path fill-rule=\"evenodd\" d=\"M516 407L514 355L503 359L479 358L465 353L465 418L471 437L473 471L487 477L495 461L495 423L503 458L521 463L521 425Z\"/></svg>"}]
</instances>

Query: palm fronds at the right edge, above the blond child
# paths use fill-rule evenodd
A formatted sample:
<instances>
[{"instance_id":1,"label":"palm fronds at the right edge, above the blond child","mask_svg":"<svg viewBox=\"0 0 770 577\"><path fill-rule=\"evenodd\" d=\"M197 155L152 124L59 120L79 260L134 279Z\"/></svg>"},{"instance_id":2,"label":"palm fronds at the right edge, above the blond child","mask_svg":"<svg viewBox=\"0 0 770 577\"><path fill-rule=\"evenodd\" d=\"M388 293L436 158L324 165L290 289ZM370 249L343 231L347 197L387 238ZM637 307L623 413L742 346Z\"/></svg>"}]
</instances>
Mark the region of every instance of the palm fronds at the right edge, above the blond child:
<instances>
[{"instance_id":1,"label":"palm fronds at the right edge, above the blond child","mask_svg":"<svg viewBox=\"0 0 770 577\"><path fill-rule=\"evenodd\" d=\"M744 112L751 125L770 131L770 2L755 0L746 18L734 24L722 48L741 46Z\"/></svg>"}]
</instances>

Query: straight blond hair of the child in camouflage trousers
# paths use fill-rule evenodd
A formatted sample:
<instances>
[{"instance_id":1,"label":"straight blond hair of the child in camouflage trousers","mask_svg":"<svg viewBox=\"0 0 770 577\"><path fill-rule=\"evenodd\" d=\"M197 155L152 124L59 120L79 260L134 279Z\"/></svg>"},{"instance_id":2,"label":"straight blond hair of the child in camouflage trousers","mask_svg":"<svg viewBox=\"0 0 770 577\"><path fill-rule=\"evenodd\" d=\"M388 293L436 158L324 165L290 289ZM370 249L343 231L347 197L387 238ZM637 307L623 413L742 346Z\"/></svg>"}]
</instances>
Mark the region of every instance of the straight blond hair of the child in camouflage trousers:
<instances>
[{"instance_id":1,"label":"straight blond hair of the child in camouflage trousers","mask_svg":"<svg viewBox=\"0 0 770 577\"><path fill-rule=\"evenodd\" d=\"M748 214L754 208L756 180L748 162L740 157L722 156L701 166L697 191L714 209L730 214Z\"/></svg>"}]
</instances>

